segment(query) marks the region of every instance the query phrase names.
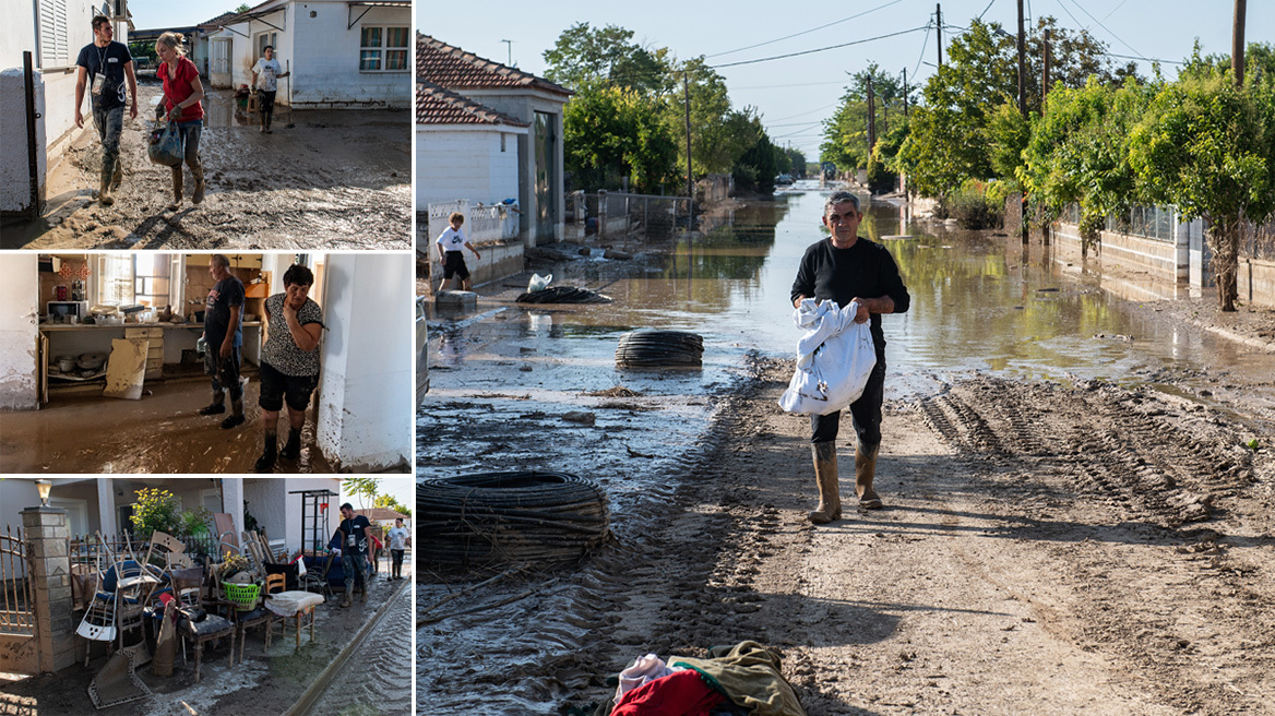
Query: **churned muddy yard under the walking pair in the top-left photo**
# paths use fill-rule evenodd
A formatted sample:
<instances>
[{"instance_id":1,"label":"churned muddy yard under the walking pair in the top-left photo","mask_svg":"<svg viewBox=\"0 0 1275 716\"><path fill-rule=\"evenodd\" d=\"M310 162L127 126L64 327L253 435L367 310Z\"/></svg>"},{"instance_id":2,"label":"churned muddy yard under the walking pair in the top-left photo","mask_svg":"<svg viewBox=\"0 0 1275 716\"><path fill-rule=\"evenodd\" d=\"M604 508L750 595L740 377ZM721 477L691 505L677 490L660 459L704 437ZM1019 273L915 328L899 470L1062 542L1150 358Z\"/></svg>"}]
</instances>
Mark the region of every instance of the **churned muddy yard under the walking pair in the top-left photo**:
<instances>
[{"instance_id":1,"label":"churned muddy yard under the walking pair in the top-left photo","mask_svg":"<svg viewBox=\"0 0 1275 716\"><path fill-rule=\"evenodd\" d=\"M172 197L168 167L147 158L157 83L138 87L136 120L125 115L124 182L115 204L96 200L101 143L88 131L50 177L46 215L5 227L4 248L409 248L412 246L411 116L388 110L278 107L273 134L237 108L227 90L210 90L200 139L207 196ZM292 126L289 126L292 125Z\"/></svg>"}]
</instances>

